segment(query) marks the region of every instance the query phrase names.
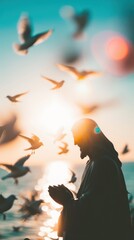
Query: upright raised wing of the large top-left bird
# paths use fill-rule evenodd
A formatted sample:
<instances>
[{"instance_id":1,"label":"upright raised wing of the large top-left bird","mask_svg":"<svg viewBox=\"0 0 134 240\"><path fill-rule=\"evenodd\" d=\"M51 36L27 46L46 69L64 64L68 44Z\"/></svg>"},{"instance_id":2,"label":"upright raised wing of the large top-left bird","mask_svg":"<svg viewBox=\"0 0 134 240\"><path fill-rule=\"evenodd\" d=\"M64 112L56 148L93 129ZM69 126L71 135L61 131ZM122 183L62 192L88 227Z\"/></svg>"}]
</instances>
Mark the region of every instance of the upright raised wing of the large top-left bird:
<instances>
[{"instance_id":1,"label":"upright raised wing of the large top-left bird","mask_svg":"<svg viewBox=\"0 0 134 240\"><path fill-rule=\"evenodd\" d=\"M31 38L32 28L28 16L20 17L18 22L18 34L21 42L26 42Z\"/></svg>"}]
</instances>

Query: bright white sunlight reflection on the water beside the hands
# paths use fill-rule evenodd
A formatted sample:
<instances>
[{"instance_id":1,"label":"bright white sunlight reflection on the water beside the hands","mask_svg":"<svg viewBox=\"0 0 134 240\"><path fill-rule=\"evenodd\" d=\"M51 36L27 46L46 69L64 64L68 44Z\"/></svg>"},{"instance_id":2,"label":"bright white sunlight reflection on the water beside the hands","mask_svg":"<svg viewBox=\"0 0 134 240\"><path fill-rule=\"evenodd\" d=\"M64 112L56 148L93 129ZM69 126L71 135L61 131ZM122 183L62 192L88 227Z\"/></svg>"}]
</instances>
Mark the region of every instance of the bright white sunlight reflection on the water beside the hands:
<instances>
[{"instance_id":1,"label":"bright white sunlight reflection on the water beside the hands","mask_svg":"<svg viewBox=\"0 0 134 240\"><path fill-rule=\"evenodd\" d=\"M68 183L71 178L71 173L65 162L56 161L51 163L44 172L41 179L38 180L35 190L40 191L40 198L45 201L42 207L45 213L45 221L39 229L38 236L44 240L58 239L57 222L62 206L57 204L48 193L49 185L64 184L70 190L75 191L76 187L73 183ZM62 238L59 238L62 239Z\"/></svg>"}]
</instances>

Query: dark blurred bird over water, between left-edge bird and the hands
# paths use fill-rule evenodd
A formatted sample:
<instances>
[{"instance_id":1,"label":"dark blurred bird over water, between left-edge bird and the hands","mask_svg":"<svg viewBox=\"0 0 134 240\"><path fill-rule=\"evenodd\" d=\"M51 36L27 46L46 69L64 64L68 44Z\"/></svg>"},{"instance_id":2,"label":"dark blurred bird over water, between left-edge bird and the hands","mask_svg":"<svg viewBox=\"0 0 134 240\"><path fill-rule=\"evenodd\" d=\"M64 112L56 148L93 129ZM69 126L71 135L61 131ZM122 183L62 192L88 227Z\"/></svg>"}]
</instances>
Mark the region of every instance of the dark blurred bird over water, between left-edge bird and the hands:
<instances>
[{"instance_id":1,"label":"dark blurred bird over water, between left-edge bird and the hands","mask_svg":"<svg viewBox=\"0 0 134 240\"><path fill-rule=\"evenodd\" d=\"M42 199L30 202L25 209L26 213L21 218L26 221L32 216L39 216L42 213L42 209L40 207L41 203L44 203Z\"/></svg>"}]
</instances>

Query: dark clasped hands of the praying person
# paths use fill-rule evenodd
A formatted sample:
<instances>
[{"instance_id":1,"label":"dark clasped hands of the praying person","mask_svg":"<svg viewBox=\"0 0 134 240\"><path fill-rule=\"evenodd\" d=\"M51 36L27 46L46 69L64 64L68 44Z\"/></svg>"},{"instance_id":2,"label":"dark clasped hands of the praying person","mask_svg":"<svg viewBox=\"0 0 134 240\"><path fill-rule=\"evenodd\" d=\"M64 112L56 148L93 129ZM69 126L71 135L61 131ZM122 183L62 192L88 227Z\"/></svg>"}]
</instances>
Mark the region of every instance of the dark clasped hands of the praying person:
<instances>
[{"instance_id":1,"label":"dark clasped hands of the praying person","mask_svg":"<svg viewBox=\"0 0 134 240\"><path fill-rule=\"evenodd\" d=\"M48 192L55 202L63 206L74 199L72 192L63 184L58 186L49 186Z\"/></svg>"}]
</instances>

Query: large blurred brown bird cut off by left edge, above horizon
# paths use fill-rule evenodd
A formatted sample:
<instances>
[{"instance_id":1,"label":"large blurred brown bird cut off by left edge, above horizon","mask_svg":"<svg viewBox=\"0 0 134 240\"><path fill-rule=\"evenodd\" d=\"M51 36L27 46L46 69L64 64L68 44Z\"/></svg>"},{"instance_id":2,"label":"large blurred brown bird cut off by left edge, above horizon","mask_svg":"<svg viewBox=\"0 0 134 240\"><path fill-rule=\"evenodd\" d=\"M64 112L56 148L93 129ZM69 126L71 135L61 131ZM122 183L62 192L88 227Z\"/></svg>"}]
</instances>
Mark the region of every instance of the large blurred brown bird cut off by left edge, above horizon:
<instances>
[{"instance_id":1,"label":"large blurred brown bird cut off by left edge, above horizon","mask_svg":"<svg viewBox=\"0 0 134 240\"><path fill-rule=\"evenodd\" d=\"M20 129L16 126L17 115L11 114L10 118L0 126L0 145L9 143L20 134Z\"/></svg>"}]
</instances>

